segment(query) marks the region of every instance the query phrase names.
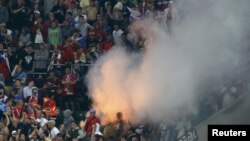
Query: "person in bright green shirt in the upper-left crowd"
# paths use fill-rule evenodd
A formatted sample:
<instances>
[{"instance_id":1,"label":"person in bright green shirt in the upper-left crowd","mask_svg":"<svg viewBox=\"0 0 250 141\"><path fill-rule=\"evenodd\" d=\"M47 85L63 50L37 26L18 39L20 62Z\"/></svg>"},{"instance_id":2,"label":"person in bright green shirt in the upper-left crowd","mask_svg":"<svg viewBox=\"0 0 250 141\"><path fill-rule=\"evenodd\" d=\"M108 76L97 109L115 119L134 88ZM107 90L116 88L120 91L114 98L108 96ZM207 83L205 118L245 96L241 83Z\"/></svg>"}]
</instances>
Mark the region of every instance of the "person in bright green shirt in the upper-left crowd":
<instances>
[{"instance_id":1,"label":"person in bright green shirt in the upper-left crowd","mask_svg":"<svg viewBox=\"0 0 250 141\"><path fill-rule=\"evenodd\" d=\"M52 21L49 28L48 41L50 46L62 45L62 32L55 21Z\"/></svg>"}]
</instances>

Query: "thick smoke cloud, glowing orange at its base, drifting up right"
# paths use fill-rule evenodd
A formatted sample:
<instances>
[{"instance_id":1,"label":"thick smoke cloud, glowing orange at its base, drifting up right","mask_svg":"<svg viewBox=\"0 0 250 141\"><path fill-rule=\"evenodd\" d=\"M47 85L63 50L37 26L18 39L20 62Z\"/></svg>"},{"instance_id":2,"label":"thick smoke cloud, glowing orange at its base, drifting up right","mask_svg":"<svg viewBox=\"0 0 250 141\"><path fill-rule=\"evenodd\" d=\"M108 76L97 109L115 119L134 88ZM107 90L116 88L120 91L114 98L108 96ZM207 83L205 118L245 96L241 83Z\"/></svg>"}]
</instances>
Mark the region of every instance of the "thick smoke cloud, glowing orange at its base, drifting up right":
<instances>
[{"instance_id":1,"label":"thick smoke cloud, glowing orange at its base, drifting up right","mask_svg":"<svg viewBox=\"0 0 250 141\"><path fill-rule=\"evenodd\" d=\"M141 21L150 39L143 56L115 47L88 74L94 106L111 120L161 120L177 109L196 112L202 86L231 74L248 45L248 0L179 1L173 33L152 20Z\"/></svg>"}]
</instances>

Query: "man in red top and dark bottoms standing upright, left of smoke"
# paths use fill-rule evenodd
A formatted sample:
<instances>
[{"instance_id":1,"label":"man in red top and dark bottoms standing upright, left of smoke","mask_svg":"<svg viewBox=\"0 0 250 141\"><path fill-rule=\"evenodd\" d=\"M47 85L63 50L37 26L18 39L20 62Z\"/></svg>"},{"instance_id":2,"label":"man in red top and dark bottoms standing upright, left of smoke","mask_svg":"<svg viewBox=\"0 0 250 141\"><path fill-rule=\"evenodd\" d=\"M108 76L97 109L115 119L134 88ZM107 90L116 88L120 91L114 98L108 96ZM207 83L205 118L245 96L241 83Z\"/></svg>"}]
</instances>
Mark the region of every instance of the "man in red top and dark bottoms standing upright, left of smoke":
<instances>
[{"instance_id":1,"label":"man in red top and dark bottoms standing upright, left of smoke","mask_svg":"<svg viewBox=\"0 0 250 141\"><path fill-rule=\"evenodd\" d=\"M76 84L76 76L72 74L70 72L70 68L67 67L65 70L65 75L62 77L63 96L66 109L69 108L69 103L70 103L71 110L74 110L75 84Z\"/></svg>"}]
</instances>

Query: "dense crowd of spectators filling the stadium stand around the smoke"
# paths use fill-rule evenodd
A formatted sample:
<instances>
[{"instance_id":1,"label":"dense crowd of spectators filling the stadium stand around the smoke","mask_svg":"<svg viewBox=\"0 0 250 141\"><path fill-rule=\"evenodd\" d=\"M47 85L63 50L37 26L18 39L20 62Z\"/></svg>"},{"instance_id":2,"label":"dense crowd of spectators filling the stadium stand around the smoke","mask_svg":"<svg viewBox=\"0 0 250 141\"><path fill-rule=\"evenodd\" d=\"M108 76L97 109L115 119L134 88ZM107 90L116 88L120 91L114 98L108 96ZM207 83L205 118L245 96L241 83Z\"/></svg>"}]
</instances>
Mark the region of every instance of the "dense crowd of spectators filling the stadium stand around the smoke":
<instances>
[{"instance_id":1,"label":"dense crowd of spectators filling the stadium stand around the smoke","mask_svg":"<svg viewBox=\"0 0 250 141\"><path fill-rule=\"evenodd\" d=\"M170 23L174 3L0 0L0 141L176 141L243 94L237 78L209 87L197 115L131 125L121 111L100 125L85 95L88 67L113 46L141 53L145 39L130 25L145 17Z\"/></svg>"}]
</instances>

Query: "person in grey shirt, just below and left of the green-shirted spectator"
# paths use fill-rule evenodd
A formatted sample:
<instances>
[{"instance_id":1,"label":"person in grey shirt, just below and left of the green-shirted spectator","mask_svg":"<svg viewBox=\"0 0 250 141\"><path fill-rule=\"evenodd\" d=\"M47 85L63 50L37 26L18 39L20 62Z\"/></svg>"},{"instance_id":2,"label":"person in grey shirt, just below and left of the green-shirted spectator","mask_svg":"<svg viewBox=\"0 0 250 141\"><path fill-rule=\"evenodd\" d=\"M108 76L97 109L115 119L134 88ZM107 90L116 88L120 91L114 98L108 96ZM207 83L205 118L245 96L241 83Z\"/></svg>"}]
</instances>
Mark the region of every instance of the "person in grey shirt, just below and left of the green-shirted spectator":
<instances>
[{"instance_id":1,"label":"person in grey shirt, just below and left of the green-shirted spectator","mask_svg":"<svg viewBox=\"0 0 250 141\"><path fill-rule=\"evenodd\" d=\"M49 51L46 44L40 44L40 49L35 51L35 72L46 72L49 60Z\"/></svg>"}]
</instances>

